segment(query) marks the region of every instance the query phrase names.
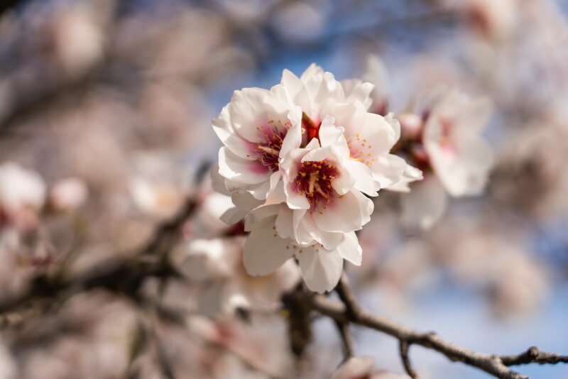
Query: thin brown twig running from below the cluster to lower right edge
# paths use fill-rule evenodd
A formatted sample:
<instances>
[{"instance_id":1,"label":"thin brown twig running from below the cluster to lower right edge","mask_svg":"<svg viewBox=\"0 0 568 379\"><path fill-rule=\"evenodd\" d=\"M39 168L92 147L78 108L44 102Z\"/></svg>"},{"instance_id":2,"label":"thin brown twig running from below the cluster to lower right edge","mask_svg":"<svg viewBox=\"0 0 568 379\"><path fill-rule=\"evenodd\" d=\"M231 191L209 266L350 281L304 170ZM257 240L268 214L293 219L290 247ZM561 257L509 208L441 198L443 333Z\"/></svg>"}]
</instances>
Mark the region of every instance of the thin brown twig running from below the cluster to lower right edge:
<instances>
[{"instance_id":1,"label":"thin brown twig running from below the cluster to lower right edge","mask_svg":"<svg viewBox=\"0 0 568 379\"><path fill-rule=\"evenodd\" d=\"M415 331L407 326L397 324L389 319L378 317L366 312L356 302L353 292L349 288L346 278L342 276L336 291L343 304L327 299L322 295L305 295L305 302L311 309L334 319L339 323L352 323L366 326L376 331L393 336L400 343L400 356L406 372L412 378L418 378L417 373L410 365L408 348L419 345L435 350L449 358L450 361L459 361L468 366L484 370L486 373L501 379L528 379L528 376L517 373L509 366L518 366L529 363L555 364L568 363L568 356L559 356L555 353L543 353L532 347L516 356L496 356L469 350L452 342L445 341L435 333Z\"/></svg>"}]
</instances>

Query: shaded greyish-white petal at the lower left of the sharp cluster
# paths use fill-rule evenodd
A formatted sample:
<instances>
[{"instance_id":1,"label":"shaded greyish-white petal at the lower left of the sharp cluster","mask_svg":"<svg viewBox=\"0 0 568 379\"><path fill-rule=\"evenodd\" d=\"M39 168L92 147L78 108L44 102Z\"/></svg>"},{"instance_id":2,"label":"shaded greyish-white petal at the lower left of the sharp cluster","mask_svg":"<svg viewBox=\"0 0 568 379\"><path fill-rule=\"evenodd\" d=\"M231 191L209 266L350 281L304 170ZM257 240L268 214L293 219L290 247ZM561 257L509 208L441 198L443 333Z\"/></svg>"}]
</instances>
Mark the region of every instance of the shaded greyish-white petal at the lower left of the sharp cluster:
<instances>
[{"instance_id":1,"label":"shaded greyish-white petal at the lower left of the sharp cluster","mask_svg":"<svg viewBox=\"0 0 568 379\"><path fill-rule=\"evenodd\" d=\"M273 229L274 223L266 223L261 229L251 231L244 245L244 268L249 275L268 275L293 256L288 238L280 238Z\"/></svg>"}]
</instances>

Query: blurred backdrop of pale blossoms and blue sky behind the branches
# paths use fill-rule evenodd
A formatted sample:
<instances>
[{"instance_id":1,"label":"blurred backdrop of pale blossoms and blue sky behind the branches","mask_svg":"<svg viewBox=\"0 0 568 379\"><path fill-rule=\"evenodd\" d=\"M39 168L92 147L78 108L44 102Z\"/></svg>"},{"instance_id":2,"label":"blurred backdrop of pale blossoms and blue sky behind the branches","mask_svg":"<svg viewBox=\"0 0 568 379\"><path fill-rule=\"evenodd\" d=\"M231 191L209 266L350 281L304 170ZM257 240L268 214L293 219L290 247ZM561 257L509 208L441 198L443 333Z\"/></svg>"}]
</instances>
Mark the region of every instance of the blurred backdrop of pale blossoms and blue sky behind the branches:
<instances>
[{"instance_id":1,"label":"blurred backdrop of pale blossoms and blue sky behind the branches","mask_svg":"<svg viewBox=\"0 0 568 379\"><path fill-rule=\"evenodd\" d=\"M225 233L222 200L195 178L217 160L210 120L232 92L312 62L360 77L377 55L395 113L440 84L490 97L496 163L484 196L452 199L427 230L400 221L400 194L376 199L364 263L347 267L362 304L474 350L568 353L568 1L11 3L0 15L0 297L38 273L82 275L128 256L188 196L200 209L185 239ZM315 321L298 366L285 317L205 312L211 282L158 288L207 315L183 332L106 290L3 314L0 378L327 378L341 361L331 321ZM403 373L393 339L354 337L376 368ZM488 377L411 352L424 378ZM567 366L520 371L568 378Z\"/></svg>"}]
</instances>

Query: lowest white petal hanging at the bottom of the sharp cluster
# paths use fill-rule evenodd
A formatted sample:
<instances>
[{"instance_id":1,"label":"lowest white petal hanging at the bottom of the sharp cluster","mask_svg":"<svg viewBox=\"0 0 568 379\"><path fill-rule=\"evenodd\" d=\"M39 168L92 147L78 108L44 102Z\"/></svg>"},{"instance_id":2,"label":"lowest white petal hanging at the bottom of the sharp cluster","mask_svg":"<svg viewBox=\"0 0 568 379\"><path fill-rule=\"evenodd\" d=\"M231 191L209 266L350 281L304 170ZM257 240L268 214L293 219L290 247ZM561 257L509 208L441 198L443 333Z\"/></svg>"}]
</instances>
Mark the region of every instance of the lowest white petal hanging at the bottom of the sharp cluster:
<instances>
[{"instance_id":1,"label":"lowest white petal hanging at the bottom of the sharp cluster","mask_svg":"<svg viewBox=\"0 0 568 379\"><path fill-rule=\"evenodd\" d=\"M300 263L300 273L307 287L320 293L333 290L343 270L343 258L339 253L325 250L321 245L295 250L295 256Z\"/></svg>"}]
</instances>

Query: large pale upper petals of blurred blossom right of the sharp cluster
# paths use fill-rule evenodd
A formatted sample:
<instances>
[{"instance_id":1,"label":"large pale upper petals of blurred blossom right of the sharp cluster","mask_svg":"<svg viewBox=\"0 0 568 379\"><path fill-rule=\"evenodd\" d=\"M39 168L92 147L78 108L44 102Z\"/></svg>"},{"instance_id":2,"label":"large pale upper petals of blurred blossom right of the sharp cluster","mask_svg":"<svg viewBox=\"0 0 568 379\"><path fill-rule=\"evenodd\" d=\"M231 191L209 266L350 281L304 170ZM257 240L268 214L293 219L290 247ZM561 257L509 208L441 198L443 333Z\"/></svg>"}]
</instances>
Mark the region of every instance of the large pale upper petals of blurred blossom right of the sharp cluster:
<instances>
[{"instance_id":1,"label":"large pale upper petals of blurred blossom right of the sharp cluster","mask_svg":"<svg viewBox=\"0 0 568 379\"><path fill-rule=\"evenodd\" d=\"M491 116L488 99L471 99L456 89L442 94L424 126L430 164L453 197L481 194L493 163L481 137Z\"/></svg>"}]
</instances>

